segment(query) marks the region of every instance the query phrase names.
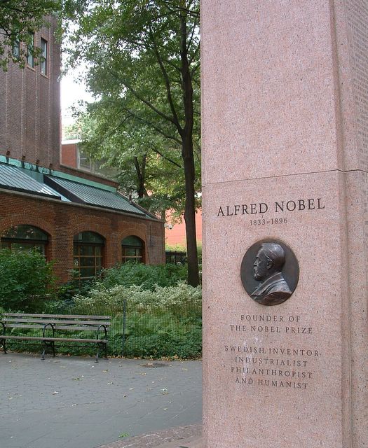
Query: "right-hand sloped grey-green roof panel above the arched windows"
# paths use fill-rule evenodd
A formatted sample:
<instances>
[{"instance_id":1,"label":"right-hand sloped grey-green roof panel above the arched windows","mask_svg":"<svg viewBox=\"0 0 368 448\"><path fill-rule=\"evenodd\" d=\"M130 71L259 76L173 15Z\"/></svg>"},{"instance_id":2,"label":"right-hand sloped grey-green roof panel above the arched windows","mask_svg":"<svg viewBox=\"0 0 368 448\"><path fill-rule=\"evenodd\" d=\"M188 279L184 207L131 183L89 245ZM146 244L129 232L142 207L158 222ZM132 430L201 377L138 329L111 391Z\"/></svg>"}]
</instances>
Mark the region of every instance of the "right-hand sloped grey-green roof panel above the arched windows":
<instances>
[{"instance_id":1,"label":"right-hand sloped grey-green roof panel above the arched windows","mask_svg":"<svg viewBox=\"0 0 368 448\"><path fill-rule=\"evenodd\" d=\"M69 181L55 176L43 176L44 182L67 197L71 202L79 204L95 205L104 209L125 211L140 216L145 216L144 211L135 207L116 191L107 191L85 183Z\"/></svg>"}]
</instances>

